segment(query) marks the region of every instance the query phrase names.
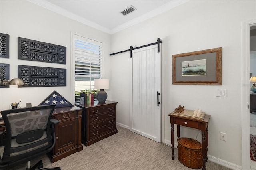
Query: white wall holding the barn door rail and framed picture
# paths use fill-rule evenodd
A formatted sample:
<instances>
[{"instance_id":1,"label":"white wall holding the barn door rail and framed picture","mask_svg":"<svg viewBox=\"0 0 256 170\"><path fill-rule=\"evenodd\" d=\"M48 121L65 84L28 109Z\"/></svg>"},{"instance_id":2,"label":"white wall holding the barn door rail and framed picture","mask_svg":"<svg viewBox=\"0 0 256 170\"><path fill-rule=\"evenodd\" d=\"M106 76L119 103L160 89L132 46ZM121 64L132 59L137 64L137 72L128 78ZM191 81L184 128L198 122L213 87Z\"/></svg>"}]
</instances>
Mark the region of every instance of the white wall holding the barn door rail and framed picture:
<instances>
[{"instance_id":1,"label":"white wall holding the barn door rail and framed picture","mask_svg":"<svg viewBox=\"0 0 256 170\"><path fill-rule=\"evenodd\" d=\"M238 168L242 166L241 132L241 26L256 17L256 1L192 0L164 14L111 36L111 52L156 42L162 43L162 142L170 144L168 114L178 105L211 115L208 155ZM222 47L222 85L172 85L172 55ZM113 55L112 99L118 101L117 121L129 127L130 53ZM227 89L227 97L215 97L216 89ZM123 95L120 96L119 94ZM227 141L220 140L220 132ZM181 136L196 131L181 128ZM198 138L200 140L200 138ZM176 141L176 140L175 140Z\"/></svg>"}]
</instances>

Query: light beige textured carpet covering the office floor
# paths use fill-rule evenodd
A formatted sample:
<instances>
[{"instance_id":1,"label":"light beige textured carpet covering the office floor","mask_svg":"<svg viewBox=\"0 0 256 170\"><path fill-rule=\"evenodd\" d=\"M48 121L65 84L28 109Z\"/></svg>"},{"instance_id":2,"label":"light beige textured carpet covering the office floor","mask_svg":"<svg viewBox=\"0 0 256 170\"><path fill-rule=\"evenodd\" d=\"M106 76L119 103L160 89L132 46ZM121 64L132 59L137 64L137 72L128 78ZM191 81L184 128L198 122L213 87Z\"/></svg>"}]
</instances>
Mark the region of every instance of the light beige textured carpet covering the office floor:
<instances>
[{"instance_id":1,"label":"light beige textured carpet covering the office floor","mask_svg":"<svg viewBox=\"0 0 256 170\"><path fill-rule=\"evenodd\" d=\"M117 127L118 133L83 148L82 151L53 164L42 156L44 168L60 166L62 170L191 170L178 161L177 149L172 160L170 146ZM39 158L31 161L34 165ZM26 163L9 170L25 170ZM207 170L229 170L206 162Z\"/></svg>"}]
</instances>

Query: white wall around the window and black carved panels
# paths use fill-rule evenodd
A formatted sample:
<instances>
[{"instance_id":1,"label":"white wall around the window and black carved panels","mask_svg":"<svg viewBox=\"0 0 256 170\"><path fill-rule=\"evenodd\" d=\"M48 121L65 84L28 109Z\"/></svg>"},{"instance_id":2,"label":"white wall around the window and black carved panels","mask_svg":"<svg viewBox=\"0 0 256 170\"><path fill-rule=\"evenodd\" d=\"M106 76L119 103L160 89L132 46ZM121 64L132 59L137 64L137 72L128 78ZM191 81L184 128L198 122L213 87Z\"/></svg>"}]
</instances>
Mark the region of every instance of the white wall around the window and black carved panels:
<instances>
[{"instance_id":1,"label":"white wall around the window and black carved panels","mask_svg":"<svg viewBox=\"0 0 256 170\"><path fill-rule=\"evenodd\" d=\"M18 77L18 65L54 67L67 69L66 87L29 87L0 88L0 110L9 109L12 102L19 102L21 107L31 102L40 104L56 90L65 99L73 103L72 70L71 70L71 33L103 42L104 78L110 78L110 35L96 30L59 14L24 1L0 1L0 32L10 35L10 58L0 58L0 63L10 64L10 79ZM18 37L67 47L67 64L44 63L18 60ZM111 89L109 89L109 97Z\"/></svg>"}]
</instances>

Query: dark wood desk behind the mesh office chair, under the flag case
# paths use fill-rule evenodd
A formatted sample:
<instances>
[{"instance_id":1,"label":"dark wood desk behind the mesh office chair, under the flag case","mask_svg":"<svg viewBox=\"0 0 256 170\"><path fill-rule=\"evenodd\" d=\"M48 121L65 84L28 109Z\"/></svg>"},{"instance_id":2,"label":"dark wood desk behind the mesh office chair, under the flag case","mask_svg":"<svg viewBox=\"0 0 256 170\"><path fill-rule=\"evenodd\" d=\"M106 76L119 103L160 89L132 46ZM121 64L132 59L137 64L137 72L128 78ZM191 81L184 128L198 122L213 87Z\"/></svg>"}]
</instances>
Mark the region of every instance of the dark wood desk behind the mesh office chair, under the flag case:
<instances>
[{"instance_id":1,"label":"dark wood desk behind the mesh office chair, under the flag case","mask_svg":"<svg viewBox=\"0 0 256 170\"><path fill-rule=\"evenodd\" d=\"M52 118L59 121L55 125L56 144L53 150L48 153L53 163L83 150L81 142L82 109L76 106L55 108ZM4 120L1 118L0 131L4 130Z\"/></svg>"}]
</instances>

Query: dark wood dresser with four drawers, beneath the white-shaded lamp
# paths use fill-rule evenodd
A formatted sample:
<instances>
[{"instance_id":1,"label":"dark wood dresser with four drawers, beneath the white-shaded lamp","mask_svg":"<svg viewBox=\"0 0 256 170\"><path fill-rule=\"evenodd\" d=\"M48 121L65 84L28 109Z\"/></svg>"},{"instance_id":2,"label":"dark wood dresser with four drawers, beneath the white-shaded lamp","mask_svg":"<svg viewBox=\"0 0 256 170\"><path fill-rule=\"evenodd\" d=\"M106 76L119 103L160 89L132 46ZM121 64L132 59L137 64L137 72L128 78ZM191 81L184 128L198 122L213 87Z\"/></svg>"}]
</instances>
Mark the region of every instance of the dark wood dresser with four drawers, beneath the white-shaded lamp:
<instances>
[{"instance_id":1,"label":"dark wood dresser with four drawers, beneath the white-shaded lamp","mask_svg":"<svg viewBox=\"0 0 256 170\"><path fill-rule=\"evenodd\" d=\"M82 143L89 146L117 133L115 101L95 102L93 104L75 105L82 111Z\"/></svg>"}]
</instances>

